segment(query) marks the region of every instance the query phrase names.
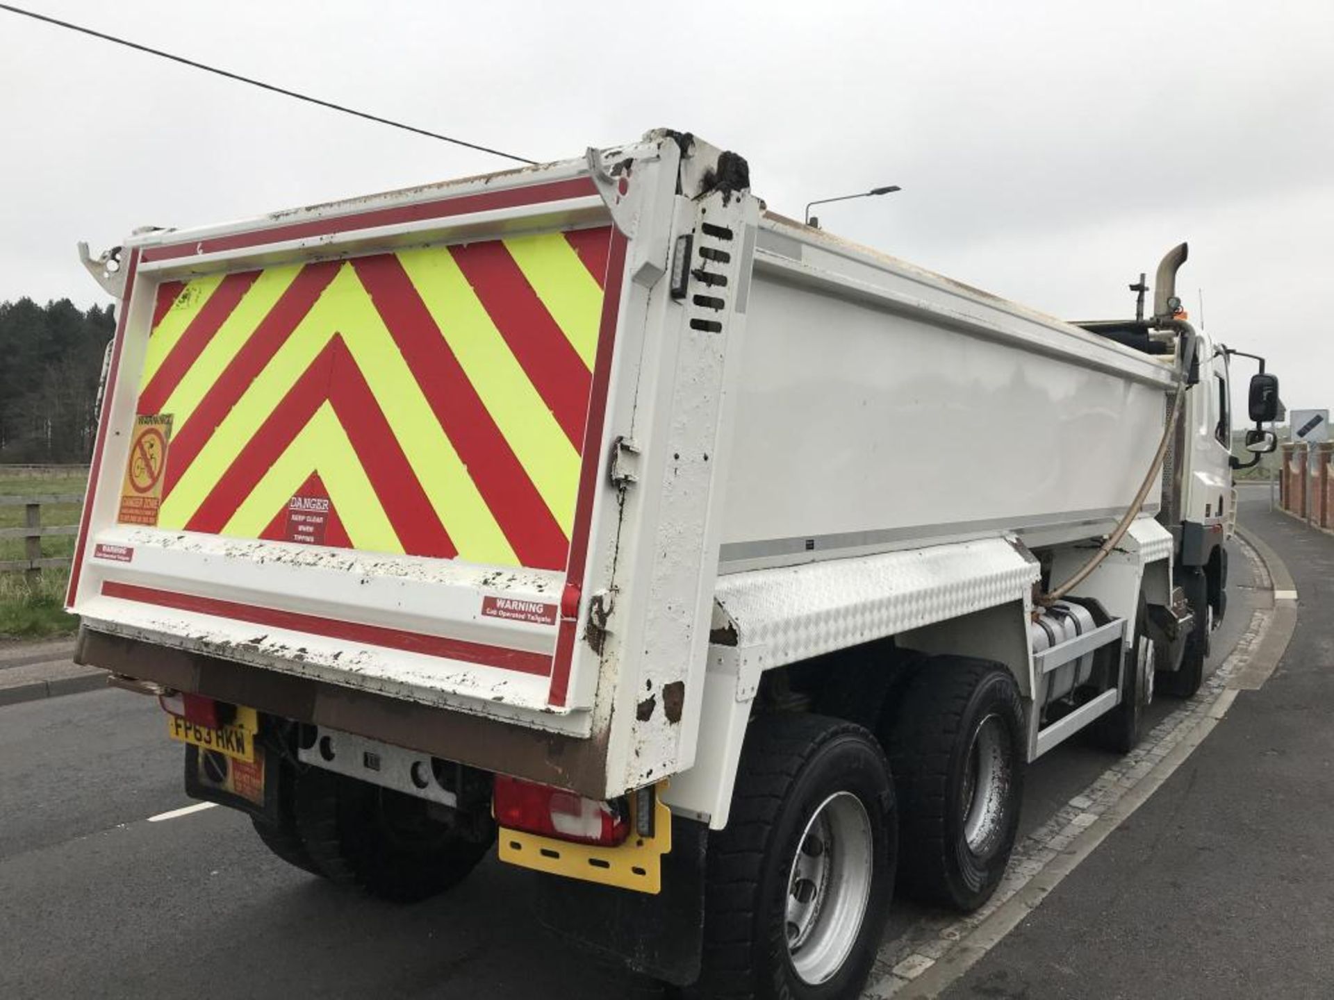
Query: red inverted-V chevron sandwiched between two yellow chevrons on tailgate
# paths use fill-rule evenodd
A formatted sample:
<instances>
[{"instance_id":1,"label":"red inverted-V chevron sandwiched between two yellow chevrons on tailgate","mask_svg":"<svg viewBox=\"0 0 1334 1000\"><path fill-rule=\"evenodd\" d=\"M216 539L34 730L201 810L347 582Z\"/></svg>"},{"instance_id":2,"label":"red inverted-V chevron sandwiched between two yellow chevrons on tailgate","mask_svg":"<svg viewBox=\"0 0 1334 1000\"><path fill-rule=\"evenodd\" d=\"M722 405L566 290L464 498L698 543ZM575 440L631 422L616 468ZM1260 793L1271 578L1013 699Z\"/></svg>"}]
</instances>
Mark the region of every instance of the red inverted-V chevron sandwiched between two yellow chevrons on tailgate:
<instances>
[{"instance_id":1,"label":"red inverted-V chevron sandwiched between two yellow chevrons on tailgate","mask_svg":"<svg viewBox=\"0 0 1334 1000\"><path fill-rule=\"evenodd\" d=\"M324 400L332 404L407 555L443 559L459 555L395 440L371 387L338 335L236 456L185 527L189 531L220 532Z\"/></svg>"}]
</instances>

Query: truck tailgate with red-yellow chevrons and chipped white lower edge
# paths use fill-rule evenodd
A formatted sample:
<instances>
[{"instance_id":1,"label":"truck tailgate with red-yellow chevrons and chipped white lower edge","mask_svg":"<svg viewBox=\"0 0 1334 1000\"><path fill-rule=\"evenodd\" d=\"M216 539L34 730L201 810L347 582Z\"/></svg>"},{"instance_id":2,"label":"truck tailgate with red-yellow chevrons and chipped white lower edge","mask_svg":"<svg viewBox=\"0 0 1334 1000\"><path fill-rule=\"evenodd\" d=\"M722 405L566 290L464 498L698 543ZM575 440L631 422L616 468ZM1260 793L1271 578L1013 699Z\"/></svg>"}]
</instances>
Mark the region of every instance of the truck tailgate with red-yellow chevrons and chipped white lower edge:
<instances>
[{"instance_id":1,"label":"truck tailgate with red-yellow chevrons and chipped white lower edge","mask_svg":"<svg viewBox=\"0 0 1334 1000\"><path fill-rule=\"evenodd\" d=\"M567 725L626 240L560 173L129 248L71 609Z\"/></svg>"}]
</instances>

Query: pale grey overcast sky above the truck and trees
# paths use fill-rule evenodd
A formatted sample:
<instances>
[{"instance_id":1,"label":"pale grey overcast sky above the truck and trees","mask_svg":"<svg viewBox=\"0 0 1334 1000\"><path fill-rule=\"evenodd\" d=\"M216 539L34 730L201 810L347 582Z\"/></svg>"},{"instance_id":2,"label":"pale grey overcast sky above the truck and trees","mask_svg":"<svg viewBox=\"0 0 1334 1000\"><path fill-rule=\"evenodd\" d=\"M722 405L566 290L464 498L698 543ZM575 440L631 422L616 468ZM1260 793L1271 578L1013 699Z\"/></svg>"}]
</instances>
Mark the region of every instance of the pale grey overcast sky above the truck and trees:
<instances>
[{"instance_id":1,"label":"pale grey overcast sky above the truck and trees","mask_svg":"<svg viewBox=\"0 0 1334 1000\"><path fill-rule=\"evenodd\" d=\"M24 3L532 159L692 131L792 216L900 184L824 227L1071 319L1189 240L1191 319L1334 404L1331 0ZM7 12L0 45L0 300L105 301L80 239L506 165Z\"/></svg>"}]
</instances>

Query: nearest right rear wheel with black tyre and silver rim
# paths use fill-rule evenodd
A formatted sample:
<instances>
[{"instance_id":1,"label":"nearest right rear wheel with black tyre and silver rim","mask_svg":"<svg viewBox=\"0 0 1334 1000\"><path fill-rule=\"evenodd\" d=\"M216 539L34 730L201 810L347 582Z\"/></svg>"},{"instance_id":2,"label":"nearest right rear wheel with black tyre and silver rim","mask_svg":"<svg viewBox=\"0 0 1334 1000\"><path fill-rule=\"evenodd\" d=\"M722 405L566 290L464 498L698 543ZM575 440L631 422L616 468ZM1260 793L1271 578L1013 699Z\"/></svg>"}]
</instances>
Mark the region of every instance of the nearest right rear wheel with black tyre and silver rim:
<instances>
[{"instance_id":1,"label":"nearest right rear wheel with black tyre and silver rim","mask_svg":"<svg viewBox=\"0 0 1334 1000\"><path fill-rule=\"evenodd\" d=\"M895 848L894 785L870 732L816 715L752 721L731 817L710 836L700 995L856 996Z\"/></svg>"}]
</instances>

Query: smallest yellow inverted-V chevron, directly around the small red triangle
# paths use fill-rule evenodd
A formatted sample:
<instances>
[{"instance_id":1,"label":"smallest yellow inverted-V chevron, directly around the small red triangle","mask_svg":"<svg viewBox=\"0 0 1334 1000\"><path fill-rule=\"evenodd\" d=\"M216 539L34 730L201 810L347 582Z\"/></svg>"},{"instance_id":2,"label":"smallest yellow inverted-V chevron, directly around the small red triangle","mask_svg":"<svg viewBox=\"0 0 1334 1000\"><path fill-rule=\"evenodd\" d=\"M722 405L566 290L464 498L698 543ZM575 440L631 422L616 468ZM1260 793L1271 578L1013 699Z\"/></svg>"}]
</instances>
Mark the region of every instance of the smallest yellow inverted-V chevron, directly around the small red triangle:
<instances>
[{"instance_id":1,"label":"smallest yellow inverted-V chevron, directly around the small red triangle","mask_svg":"<svg viewBox=\"0 0 1334 1000\"><path fill-rule=\"evenodd\" d=\"M403 552L403 544L380 507L356 449L328 403L315 411L315 416L296 435L283 457L269 467L220 533L257 539L312 472L319 473L328 489L329 501L355 548Z\"/></svg>"}]
</instances>

